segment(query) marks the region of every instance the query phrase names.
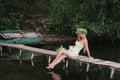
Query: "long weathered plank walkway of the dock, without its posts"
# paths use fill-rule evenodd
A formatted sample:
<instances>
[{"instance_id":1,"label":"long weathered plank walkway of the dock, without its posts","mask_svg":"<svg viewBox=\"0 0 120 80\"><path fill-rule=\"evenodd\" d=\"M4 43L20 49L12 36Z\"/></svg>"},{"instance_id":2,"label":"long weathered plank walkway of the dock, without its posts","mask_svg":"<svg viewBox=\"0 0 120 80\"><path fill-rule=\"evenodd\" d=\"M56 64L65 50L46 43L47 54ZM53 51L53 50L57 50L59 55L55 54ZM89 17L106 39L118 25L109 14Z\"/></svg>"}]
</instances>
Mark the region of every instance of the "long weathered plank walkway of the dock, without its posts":
<instances>
[{"instance_id":1,"label":"long weathered plank walkway of the dock, without its posts","mask_svg":"<svg viewBox=\"0 0 120 80\"><path fill-rule=\"evenodd\" d=\"M57 55L57 53L55 51L29 47L29 46L25 46L22 44L0 43L0 45L18 48L20 50L26 50L26 51L30 51L30 52L34 52L34 53L38 53L38 54L43 54L43 55L50 55L50 56ZM114 67L114 68L120 69L120 63L116 63L113 61L104 61L101 59L90 59L90 58L88 58L86 56L82 56L82 55L80 55L78 57L69 57L69 58L73 59L73 60L77 60L78 62L91 63L91 64L96 64L96 65L101 65L101 66L106 66L106 67Z\"/></svg>"}]
</instances>

